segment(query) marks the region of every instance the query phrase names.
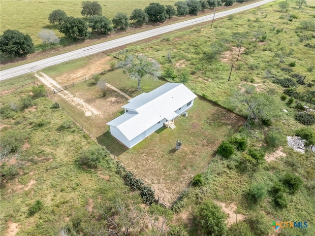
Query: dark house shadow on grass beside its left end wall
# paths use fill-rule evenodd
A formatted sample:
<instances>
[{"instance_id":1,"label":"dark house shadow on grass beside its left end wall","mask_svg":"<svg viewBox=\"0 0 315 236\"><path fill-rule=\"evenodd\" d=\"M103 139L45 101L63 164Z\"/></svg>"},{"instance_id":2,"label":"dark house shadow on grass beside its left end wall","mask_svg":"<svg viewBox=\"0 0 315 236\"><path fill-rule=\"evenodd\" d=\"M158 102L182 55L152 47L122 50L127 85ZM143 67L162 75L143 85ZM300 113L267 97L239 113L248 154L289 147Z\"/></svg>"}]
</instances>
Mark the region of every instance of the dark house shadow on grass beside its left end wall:
<instances>
[{"instance_id":1,"label":"dark house shadow on grass beside its left end wall","mask_svg":"<svg viewBox=\"0 0 315 236\"><path fill-rule=\"evenodd\" d=\"M113 155L119 157L128 150L121 142L113 137L109 131L96 137L97 142L105 146Z\"/></svg>"}]
</instances>

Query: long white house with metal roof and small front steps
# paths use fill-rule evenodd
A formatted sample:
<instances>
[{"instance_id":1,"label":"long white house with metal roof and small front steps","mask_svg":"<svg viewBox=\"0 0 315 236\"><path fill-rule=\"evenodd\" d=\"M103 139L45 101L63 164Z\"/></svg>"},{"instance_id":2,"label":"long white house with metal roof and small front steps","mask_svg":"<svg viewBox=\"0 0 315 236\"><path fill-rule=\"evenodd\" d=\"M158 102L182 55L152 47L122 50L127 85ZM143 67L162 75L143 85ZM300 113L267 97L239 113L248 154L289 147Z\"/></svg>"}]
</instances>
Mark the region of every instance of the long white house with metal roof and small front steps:
<instances>
[{"instance_id":1,"label":"long white house with metal roof and small front steps","mask_svg":"<svg viewBox=\"0 0 315 236\"><path fill-rule=\"evenodd\" d=\"M131 148L153 132L187 111L194 95L184 84L166 83L142 93L123 106L125 113L107 123L110 133ZM173 126L175 128L175 126Z\"/></svg>"}]
</instances>

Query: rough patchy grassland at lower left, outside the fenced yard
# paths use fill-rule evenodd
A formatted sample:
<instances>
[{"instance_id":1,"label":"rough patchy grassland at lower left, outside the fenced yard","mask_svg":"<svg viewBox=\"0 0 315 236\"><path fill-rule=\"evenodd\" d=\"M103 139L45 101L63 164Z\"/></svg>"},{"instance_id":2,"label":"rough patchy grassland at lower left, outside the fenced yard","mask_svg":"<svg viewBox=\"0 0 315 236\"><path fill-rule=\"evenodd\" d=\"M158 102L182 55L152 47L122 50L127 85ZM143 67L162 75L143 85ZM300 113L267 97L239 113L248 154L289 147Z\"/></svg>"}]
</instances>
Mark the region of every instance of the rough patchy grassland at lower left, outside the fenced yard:
<instances>
[{"instance_id":1,"label":"rough patchy grassland at lower left, outside the fenced yard","mask_svg":"<svg viewBox=\"0 0 315 236\"><path fill-rule=\"evenodd\" d=\"M1 96L1 102L18 103L16 98L30 91L28 88ZM92 215L97 203L138 198L132 194L123 196L128 187L116 174L113 164L105 161L97 171L80 168L75 159L94 141L61 109L51 109L50 99L40 98L34 104L32 108L17 112L14 124L1 115L2 139L14 131L24 135L19 158L9 162L18 168L18 176L10 179L1 175L1 234L9 235L16 223L18 235L59 235L67 224L71 226L69 222L73 217ZM43 122L42 126L36 125L39 121ZM72 123L70 128L62 128L65 121ZM2 168L3 165L1 173ZM42 209L28 216L36 200L42 202Z\"/></svg>"}]
</instances>

